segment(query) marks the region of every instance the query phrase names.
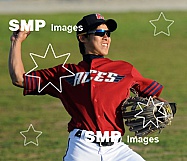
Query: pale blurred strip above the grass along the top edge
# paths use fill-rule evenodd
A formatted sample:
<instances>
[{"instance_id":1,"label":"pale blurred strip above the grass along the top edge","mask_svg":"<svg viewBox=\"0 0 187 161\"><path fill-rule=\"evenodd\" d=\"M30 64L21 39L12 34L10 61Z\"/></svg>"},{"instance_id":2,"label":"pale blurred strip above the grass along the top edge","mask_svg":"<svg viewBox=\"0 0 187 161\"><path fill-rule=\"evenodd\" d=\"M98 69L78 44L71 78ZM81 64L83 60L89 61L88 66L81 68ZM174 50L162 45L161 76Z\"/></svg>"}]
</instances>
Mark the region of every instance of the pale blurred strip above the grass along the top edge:
<instances>
[{"instance_id":1,"label":"pale blurred strip above the grass along the top edge","mask_svg":"<svg viewBox=\"0 0 187 161\"><path fill-rule=\"evenodd\" d=\"M0 13L186 11L186 0L0 0Z\"/></svg>"}]
</instances>

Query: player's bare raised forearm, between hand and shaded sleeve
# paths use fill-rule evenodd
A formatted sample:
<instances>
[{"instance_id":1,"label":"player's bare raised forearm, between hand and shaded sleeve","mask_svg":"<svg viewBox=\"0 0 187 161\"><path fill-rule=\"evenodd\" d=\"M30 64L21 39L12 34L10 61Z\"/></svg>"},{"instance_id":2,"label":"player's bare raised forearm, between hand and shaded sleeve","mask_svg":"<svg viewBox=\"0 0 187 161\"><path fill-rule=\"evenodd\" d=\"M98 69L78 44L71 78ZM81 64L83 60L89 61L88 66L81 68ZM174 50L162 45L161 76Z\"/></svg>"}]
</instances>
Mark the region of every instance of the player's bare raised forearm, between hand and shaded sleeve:
<instances>
[{"instance_id":1,"label":"player's bare raised forearm, between hand and shaded sleeve","mask_svg":"<svg viewBox=\"0 0 187 161\"><path fill-rule=\"evenodd\" d=\"M9 74L12 83L18 87L23 87L23 74L25 73L21 58L21 42L19 40L11 41L9 53Z\"/></svg>"}]
</instances>

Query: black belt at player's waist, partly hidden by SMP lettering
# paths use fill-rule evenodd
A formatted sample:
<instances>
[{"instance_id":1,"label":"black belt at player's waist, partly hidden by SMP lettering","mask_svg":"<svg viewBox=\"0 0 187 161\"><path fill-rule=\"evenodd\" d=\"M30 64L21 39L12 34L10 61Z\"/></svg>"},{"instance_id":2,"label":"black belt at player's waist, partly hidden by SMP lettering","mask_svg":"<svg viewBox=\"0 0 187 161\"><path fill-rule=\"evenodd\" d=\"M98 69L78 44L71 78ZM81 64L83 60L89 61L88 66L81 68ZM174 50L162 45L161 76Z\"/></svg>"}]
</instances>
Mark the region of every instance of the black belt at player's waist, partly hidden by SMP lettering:
<instances>
[{"instance_id":1,"label":"black belt at player's waist, partly hidden by SMP lettering","mask_svg":"<svg viewBox=\"0 0 187 161\"><path fill-rule=\"evenodd\" d=\"M81 138L81 134L82 134L82 130L78 130L75 133L75 136ZM117 142L121 142L121 138L119 138L117 140ZM95 136L95 140L92 143L95 143L95 144L99 145L100 147L101 146L112 146L112 145L114 145L114 142L112 142L110 138L109 138L109 141L107 141L107 142L106 142L106 139L103 142L101 142L101 141L98 142L97 139L96 139L96 136Z\"/></svg>"}]
</instances>

